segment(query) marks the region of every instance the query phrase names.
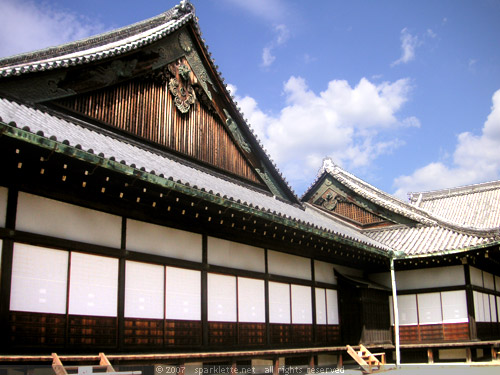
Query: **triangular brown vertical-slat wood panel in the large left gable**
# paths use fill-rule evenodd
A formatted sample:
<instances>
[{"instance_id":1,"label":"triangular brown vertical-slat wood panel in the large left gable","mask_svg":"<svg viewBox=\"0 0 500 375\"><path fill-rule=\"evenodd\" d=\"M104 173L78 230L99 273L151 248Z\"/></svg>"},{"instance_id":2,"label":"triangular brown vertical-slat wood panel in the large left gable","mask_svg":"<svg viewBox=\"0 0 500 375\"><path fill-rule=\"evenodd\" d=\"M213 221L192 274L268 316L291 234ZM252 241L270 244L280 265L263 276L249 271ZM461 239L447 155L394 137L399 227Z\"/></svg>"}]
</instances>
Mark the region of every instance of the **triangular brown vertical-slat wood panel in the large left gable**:
<instances>
[{"instance_id":1,"label":"triangular brown vertical-slat wood panel in the large left gable","mask_svg":"<svg viewBox=\"0 0 500 375\"><path fill-rule=\"evenodd\" d=\"M200 103L186 113L167 82L142 78L56 101L57 104L171 150L259 182L222 121ZM177 100L178 101L178 100ZM111 156L111 155L110 155Z\"/></svg>"}]
</instances>

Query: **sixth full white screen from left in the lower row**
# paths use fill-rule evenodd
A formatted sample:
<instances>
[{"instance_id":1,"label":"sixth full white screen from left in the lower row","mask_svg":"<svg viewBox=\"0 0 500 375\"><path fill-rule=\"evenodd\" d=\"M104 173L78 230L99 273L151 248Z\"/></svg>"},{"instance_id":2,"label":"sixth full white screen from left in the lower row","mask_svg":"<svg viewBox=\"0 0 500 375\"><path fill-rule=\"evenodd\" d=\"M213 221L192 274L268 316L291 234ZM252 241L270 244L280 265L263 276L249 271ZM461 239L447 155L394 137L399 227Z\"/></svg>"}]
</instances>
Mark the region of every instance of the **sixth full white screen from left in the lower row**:
<instances>
[{"instance_id":1,"label":"sixth full white screen from left in the lower row","mask_svg":"<svg viewBox=\"0 0 500 375\"><path fill-rule=\"evenodd\" d=\"M264 280L238 277L238 321L266 322Z\"/></svg>"}]
</instances>

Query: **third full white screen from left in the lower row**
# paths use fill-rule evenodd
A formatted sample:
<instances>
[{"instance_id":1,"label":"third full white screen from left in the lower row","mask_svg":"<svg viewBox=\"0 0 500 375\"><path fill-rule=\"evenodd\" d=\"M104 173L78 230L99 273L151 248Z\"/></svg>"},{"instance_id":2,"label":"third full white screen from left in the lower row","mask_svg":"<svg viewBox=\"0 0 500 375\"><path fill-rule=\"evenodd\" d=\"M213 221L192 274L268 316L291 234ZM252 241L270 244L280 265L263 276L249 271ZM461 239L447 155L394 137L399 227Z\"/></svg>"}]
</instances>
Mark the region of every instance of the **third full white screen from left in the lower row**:
<instances>
[{"instance_id":1,"label":"third full white screen from left in the lower row","mask_svg":"<svg viewBox=\"0 0 500 375\"><path fill-rule=\"evenodd\" d=\"M125 317L163 319L164 266L127 261Z\"/></svg>"}]
</instances>

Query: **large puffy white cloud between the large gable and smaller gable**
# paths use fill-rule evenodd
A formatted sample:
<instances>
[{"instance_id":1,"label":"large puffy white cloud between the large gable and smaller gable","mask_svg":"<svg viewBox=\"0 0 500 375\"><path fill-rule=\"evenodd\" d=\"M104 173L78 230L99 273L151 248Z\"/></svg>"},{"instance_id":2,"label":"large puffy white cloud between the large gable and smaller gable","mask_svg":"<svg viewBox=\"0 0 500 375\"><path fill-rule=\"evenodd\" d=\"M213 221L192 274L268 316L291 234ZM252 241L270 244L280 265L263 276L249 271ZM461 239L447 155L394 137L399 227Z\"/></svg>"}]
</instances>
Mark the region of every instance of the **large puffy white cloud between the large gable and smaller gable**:
<instances>
[{"instance_id":1,"label":"large puffy white cloud between the large gable and smaller gable","mask_svg":"<svg viewBox=\"0 0 500 375\"><path fill-rule=\"evenodd\" d=\"M399 147L391 130L418 124L414 117L397 116L410 89L408 79L376 85L362 78L354 87L333 80L315 93L303 78L291 77L278 114L265 113L252 97L237 100L282 172L305 188L326 156L349 168L366 167Z\"/></svg>"}]
</instances>

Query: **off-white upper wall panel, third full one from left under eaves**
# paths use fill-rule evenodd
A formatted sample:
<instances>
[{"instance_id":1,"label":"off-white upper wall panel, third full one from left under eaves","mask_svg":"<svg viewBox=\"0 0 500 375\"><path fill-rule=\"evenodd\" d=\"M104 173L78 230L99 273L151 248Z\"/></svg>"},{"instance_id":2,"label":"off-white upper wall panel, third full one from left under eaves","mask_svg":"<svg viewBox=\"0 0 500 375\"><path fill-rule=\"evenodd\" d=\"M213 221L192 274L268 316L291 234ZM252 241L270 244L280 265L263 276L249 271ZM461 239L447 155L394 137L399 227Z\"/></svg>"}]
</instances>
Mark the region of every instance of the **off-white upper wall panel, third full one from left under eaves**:
<instances>
[{"instance_id":1,"label":"off-white upper wall panel, third full one from left under eaves","mask_svg":"<svg viewBox=\"0 0 500 375\"><path fill-rule=\"evenodd\" d=\"M208 237L208 263L248 271L266 271L264 249L214 237Z\"/></svg>"}]
</instances>

